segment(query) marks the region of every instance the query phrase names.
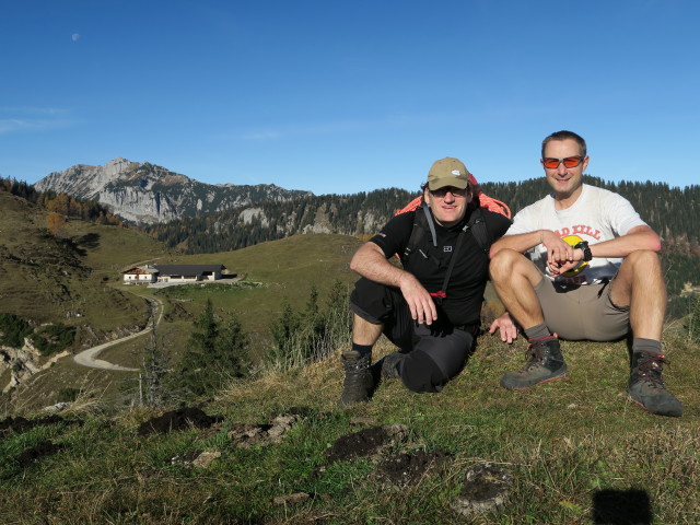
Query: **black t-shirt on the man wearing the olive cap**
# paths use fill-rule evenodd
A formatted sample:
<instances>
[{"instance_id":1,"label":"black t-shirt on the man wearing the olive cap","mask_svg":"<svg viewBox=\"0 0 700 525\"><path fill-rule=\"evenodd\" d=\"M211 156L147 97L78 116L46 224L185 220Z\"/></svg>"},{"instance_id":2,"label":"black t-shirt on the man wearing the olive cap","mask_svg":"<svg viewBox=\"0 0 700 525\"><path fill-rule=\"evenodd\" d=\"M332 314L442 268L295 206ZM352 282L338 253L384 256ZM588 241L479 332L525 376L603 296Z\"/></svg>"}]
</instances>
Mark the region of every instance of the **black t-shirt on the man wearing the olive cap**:
<instances>
[{"instance_id":1,"label":"black t-shirt on the man wearing the olive cap","mask_svg":"<svg viewBox=\"0 0 700 525\"><path fill-rule=\"evenodd\" d=\"M457 237L463 226L469 220L472 209L469 208L467 217L457 225L450 229L435 222L438 247L432 244L432 235L425 232L423 236L424 247L421 247L428 256L413 253L404 268L413 273L420 283L429 292L439 292L442 289L450 258L457 246ZM481 210L489 236L492 242L501 237L511 225L511 221L500 213ZM370 241L382 248L384 255L389 258L394 254L402 254L413 230L416 213L423 213L421 209L401 213L394 217L382 231ZM464 233L462 246L457 253L458 259L450 276L447 296L439 306L439 317L446 315L453 325L465 325L479 322L483 290L489 278L489 256L479 247L470 232ZM441 312L442 311L442 312Z\"/></svg>"}]
</instances>

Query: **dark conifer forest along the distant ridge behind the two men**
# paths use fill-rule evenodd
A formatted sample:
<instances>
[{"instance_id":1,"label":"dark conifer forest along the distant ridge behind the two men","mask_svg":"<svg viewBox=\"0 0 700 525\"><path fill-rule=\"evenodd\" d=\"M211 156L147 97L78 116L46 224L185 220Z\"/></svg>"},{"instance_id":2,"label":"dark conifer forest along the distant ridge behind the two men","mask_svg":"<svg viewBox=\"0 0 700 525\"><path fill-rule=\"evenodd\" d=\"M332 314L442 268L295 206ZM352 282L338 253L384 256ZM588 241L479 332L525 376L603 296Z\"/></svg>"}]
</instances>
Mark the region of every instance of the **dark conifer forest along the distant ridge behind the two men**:
<instances>
[{"instance_id":1,"label":"dark conifer forest along the distant ridge behind the two men","mask_svg":"<svg viewBox=\"0 0 700 525\"><path fill-rule=\"evenodd\" d=\"M700 284L700 186L678 188L651 182L611 183L587 175L585 182L626 197L662 236L661 255L669 295L677 296L684 288ZM12 179L2 179L1 183L0 189L49 211L49 229L55 215L120 224L118 217L96 202L66 195L40 194L32 186ZM520 183L483 183L481 190L505 202L515 214L547 195L549 186L544 178L537 178ZM352 195L307 196L233 208L212 215L145 226L144 230L184 254L228 252L304 233L337 233L369 238L418 195L418 190L410 192L389 188ZM673 312L674 308L680 308L680 314L685 305L672 304L669 310Z\"/></svg>"}]
</instances>

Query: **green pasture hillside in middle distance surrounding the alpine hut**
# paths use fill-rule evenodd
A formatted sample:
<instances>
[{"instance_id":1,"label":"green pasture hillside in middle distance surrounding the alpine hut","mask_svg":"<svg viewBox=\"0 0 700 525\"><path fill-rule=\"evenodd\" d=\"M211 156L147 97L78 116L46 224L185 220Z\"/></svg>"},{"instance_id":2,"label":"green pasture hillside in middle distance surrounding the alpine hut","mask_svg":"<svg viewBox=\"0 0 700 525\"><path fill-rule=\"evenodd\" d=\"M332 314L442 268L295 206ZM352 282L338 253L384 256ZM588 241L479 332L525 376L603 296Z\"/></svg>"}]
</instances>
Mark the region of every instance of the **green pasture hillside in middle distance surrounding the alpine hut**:
<instances>
[{"instance_id":1,"label":"green pasture hillside in middle distance surrounding the alpine hut","mask_svg":"<svg viewBox=\"0 0 700 525\"><path fill-rule=\"evenodd\" d=\"M7 241L3 246L9 256L0 264L8 275L25 276L15 282L0 280L0 295L8 299L0 312L75 326L74 353L143 328L149 318L145 300L155 299L163 311L156 337L177 362L187 347L192 320L211 300L220 320L231 316L241 320L250 337L250 357L257 363L270 347L270 324L284 304L303 310L315 287L323 305L335 281L350 285L355 279L349 260L361 242L354 237L296 235L235 252L182 256L136 230L70 221L61 232L68 242L59 243L43 230L40 211L4 192L0 198L9 202L0 217L0 235ZM11 231L21 233L10 235ZM164 289L121 282L121 271L147 262L222 264L236 279ZM47 301L47 295L56 299ZM149 343L148 337L131 339L107 348L100 359L139 368ZM133 396L136 377L129 372L85 369L70 357L63 358L14 389L12 396L0 396L0 411L55 404L67 388L97 389L121 406ZM5 369L0 373L0 385L9 381Z\"/></svg>"}]
</instances>

